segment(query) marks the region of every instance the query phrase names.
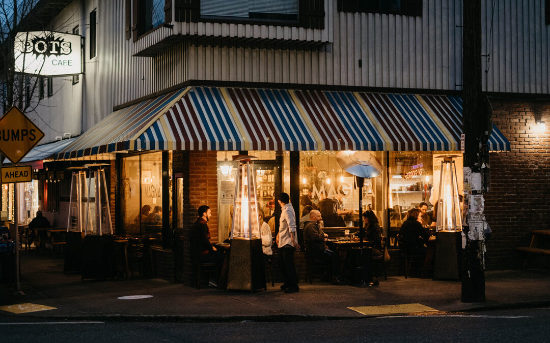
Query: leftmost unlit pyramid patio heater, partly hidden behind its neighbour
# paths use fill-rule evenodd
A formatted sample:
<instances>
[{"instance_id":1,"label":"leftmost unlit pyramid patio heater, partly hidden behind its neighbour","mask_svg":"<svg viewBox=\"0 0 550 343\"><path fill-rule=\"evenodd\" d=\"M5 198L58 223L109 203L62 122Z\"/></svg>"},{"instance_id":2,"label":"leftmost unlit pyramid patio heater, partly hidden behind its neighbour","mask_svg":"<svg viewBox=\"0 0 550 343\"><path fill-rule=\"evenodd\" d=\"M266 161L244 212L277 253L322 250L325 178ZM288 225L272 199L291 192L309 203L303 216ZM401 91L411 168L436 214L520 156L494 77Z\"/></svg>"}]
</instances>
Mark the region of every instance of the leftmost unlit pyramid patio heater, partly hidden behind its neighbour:
<instances>
[{"instance_id":1,"label":"leftmost unlit pyramid patio heater, partly hidden behind its neighbour","mask_svg":"<svg viewBox=\"0 0 550 343\"><path fill-rule=\"evenodd\" d=\"M67 237L65 237L65 263L63 272L80 272L82 263L82 239L88 202L85 167L68 167L73 172L70 185Z\"/></svg>"}]
</instances>

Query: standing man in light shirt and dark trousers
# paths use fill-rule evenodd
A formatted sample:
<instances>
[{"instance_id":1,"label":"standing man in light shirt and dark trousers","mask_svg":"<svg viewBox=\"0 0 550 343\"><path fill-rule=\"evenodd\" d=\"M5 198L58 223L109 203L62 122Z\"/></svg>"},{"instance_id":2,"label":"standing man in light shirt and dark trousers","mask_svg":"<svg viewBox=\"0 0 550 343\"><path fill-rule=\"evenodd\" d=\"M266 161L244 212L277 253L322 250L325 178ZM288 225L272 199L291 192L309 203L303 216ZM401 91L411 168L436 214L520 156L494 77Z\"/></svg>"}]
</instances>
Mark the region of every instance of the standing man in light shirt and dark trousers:
<instances>
[{"instance_id":1,"label":"standing man in light shirt and dark trousers","mask_svg":"<svg viewBox=\"0 0 550 343\"><path fill-rule=\"evenodd\" d=\"M296 215L292 204L290 204L290 196L287 193L279 194L277 201L281 205L281 219L279 220L279 233L277 234L279 266L281 266L284 277L284 284L281 285L281 289L284 289L285 293L296 293L300 291L298 274L296 274L296 266L294 266L294 250L300 249L298 236L296 235Z\"/></svg>"}]
</instances>

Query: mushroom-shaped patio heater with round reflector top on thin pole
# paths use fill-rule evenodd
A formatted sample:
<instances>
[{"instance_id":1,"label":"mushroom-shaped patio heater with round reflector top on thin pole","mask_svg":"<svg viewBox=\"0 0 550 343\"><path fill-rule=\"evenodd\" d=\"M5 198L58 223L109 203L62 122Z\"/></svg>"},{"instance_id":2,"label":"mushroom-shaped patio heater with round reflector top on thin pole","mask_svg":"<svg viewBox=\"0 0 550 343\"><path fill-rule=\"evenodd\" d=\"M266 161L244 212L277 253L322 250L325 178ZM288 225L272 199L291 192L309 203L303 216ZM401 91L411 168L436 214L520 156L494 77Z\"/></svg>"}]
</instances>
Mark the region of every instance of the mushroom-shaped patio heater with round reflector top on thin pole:
<instances>
[{"instance_id":1,"label":"mushroom-shaped patio heater with round reflector top on thin pole","mask_svg":"<svg viewBox=\"0 0 550 343\"><path fill-rule=\"evenodd\" d=\"M363 246L365 227L363 225L363 186L365 178L377 177L382 173L380 161L368 151L344 150L336 154L336 160L343 170L355 176L359 188L359 247L356 249L356 268L354 285L359 287L373 286L372 282L372 249ZM368 249L366 249L368 248Z\"/></svg>"}]
</instances>

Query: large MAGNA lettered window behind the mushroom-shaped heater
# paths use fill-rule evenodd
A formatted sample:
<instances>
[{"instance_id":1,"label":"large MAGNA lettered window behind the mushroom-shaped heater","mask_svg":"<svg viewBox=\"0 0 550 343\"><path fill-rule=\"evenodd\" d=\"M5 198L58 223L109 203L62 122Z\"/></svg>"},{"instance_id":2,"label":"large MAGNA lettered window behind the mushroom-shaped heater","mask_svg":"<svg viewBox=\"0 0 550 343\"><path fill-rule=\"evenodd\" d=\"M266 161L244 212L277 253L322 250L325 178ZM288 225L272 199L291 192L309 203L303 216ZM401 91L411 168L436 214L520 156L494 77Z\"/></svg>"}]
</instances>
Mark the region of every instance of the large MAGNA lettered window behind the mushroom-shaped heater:
<instances>
[{"instance_id":1,"label":"large MAGNA lettered window behind the mushroom-shaped heater","mask_svg":"<svg viewBox=\"0 0 550 343\"><path fill-rule=\"evenodd\" d=\"M301 151L300 217L304 207L319 209L325 227L351 227L358 224L359 189L355 177L343 170L336 160L338 151ZM380 161L383 154L372 152ZM371 209L383 225L383 174L365 179L362 211ZM305 214L305 213L304 213Z\"/></svg>"}]
</instances>

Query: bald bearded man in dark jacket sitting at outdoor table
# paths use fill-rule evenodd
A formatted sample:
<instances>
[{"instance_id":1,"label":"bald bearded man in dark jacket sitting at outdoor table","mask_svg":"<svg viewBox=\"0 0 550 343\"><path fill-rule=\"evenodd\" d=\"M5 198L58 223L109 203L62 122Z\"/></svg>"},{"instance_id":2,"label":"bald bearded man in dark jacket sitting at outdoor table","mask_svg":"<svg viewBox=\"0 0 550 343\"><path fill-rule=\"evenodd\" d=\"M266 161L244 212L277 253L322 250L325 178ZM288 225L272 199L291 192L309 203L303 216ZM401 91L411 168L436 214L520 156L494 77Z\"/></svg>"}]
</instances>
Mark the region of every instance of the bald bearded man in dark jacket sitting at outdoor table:
<instances>
[{"instance_id":1,"label":"bald bearded man in dark jacket sitting at outdoor table","mask_svg":"<svg viewBox=\"0 0 550 343\"><path fill-rule=\"evenodd\" d=\"M304 227L304 243L306 246L306 254L311 258L323 260L331 263L332 280L333 285L340 285L342 282L338 279L339 273L339 260L338 254L334 254L332 250L329 250L324 243L328 239L328 235L323 232L323 229L319 226L319 222L322 219L321 212L317 210L311 210L309 213L310 221L306 223Z\"/></svg>"}]
</instances>

